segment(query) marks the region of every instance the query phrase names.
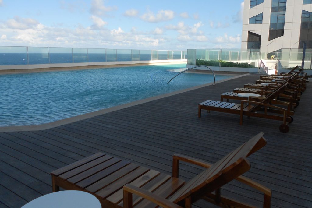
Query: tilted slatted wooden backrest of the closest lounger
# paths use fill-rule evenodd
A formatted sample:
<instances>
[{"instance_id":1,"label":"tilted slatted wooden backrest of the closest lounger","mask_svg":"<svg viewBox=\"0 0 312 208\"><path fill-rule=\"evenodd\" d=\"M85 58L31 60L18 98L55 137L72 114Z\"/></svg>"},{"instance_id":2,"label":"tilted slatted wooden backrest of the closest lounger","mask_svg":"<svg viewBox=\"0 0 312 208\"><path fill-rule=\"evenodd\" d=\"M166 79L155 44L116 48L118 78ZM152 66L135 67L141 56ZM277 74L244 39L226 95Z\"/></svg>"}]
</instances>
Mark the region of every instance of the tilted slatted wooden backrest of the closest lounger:
<instances>
[{"instance_id":1,"label":"tilted slatted wooden backrest of the closest lounger","mask_svg":"<svg viewBox=\"0 0 312 208\"><path fill-rule=\"evenodd\" d=\"M210 168L188 181L179 191L170 197L170 201L178 203L187 197L191 197L193 203L205 194L232 181L250 169L250 163L246 157L265 145L266 139L263 138L263 133L258 133L249 141L214 163Z\"/></svg>"}]
</instances>

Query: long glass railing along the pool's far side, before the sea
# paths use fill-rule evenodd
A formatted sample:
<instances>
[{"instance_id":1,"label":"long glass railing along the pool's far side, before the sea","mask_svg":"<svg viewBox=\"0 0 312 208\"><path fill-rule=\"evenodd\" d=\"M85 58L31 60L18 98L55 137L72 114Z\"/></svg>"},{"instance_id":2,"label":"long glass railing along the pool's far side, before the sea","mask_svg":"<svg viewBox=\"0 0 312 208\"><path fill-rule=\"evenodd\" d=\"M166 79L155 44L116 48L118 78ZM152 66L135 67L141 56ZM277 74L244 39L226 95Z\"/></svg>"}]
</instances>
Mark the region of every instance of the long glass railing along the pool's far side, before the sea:
<instances>
[{"instance_id":1,"label":"long glass railing along the pool's far side, before the sea","mask_svg":"<svg viewBox=\"0 0 312 208\"><path fill-rule=\"evenodd\" d=\"M0 65L187 59L187 51L0 46Z\"/></svg>"}]
</instances>

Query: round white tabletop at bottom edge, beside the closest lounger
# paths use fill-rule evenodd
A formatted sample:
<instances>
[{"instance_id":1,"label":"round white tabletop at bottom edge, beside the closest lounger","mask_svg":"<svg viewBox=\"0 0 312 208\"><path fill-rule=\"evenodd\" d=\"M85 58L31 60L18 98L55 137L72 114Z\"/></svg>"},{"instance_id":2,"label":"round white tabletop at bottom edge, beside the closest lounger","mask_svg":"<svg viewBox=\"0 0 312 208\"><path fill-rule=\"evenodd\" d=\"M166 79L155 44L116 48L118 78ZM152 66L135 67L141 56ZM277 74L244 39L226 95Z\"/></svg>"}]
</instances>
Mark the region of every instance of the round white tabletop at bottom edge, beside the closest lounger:
<instances>
[{"instance_id":1,"label":"round white tabletop at bottom edge, beside the closest lounger","mask_svg":"<svg viewBox=\"0 0 312 208\"><path fill-rule=\"evenodd\" d=\"M56 191L34 199L21 208L101 208L100 201L85 191Z\"/></svg>"}]
</instances>

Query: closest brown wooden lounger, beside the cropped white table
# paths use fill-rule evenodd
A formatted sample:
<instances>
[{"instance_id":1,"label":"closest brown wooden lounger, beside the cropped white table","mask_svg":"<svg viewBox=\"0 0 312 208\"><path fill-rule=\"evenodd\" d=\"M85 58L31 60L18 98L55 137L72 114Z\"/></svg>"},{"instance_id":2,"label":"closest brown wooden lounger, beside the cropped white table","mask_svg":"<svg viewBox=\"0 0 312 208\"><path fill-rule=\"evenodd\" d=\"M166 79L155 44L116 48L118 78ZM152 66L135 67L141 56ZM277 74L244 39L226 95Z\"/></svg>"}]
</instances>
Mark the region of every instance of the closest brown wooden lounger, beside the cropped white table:
<instances>
[{"instance_id":1,"label":"closest brown wooden lounger, beside the cropped white table","mask_svg":"<svg viewBox=\"0 0 312 208\"><path fill-rule=\"evenodd\" d=\"M172 176L96 153L51 172L53 192L59 191L59 187L87 191L100 200L103 208L155 207L152 203L167 208L191 207L199 199L219 206L253 207L221 196L221 187L236 179L264 193L263 207L270 207L271 190L241 176L250 169L246 157L265 145L261 132L213 165L176 154L173 156ZM178 178L179 161L206 169L185 183ZM213 191L216 194L212 194ZM132 197L133 194L136 196Z\"/></svg>"}]
</instances>

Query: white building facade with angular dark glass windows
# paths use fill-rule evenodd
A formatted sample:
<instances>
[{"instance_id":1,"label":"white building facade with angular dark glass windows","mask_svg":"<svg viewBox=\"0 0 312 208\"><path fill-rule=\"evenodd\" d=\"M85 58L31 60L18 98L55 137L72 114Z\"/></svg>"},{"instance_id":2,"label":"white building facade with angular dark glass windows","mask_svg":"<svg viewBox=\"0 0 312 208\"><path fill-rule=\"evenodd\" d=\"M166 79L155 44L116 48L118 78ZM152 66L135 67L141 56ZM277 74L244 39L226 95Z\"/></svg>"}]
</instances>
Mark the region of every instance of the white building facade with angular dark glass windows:
<instances>
[{"instance_id":1,"label":"white building facade with angular dark glass windows","mask_svg":"<svg viewBox=\"0 0 312 208\"><path fill-rule=\"evenodd\" d=\"M241 48L312 48L312 0L244 0Z\"/></svg>"}]
</instances>

